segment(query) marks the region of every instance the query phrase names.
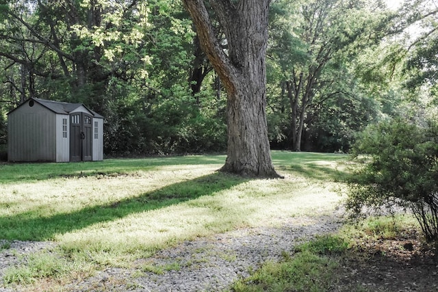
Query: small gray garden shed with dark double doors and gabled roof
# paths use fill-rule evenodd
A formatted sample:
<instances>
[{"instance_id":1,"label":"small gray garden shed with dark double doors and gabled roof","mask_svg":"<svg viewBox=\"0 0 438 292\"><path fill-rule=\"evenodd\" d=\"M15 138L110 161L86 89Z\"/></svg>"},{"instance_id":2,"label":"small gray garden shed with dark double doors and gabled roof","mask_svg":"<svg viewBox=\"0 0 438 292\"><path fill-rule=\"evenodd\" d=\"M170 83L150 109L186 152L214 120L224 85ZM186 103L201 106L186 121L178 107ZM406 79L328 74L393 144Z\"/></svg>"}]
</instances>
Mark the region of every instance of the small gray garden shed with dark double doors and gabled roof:
<instances>
[{"instance_id":1,"label":"small gray garden shed with dark double doors and gabled roof","mask_svg":"<svg viewBox=\"0 0 438 292\"><path fill-rule=\"evenodd\" d=\"M82 103L29 98L8 113L8 161L103 160L103 116Z\"/></svg>"}]
</instances>

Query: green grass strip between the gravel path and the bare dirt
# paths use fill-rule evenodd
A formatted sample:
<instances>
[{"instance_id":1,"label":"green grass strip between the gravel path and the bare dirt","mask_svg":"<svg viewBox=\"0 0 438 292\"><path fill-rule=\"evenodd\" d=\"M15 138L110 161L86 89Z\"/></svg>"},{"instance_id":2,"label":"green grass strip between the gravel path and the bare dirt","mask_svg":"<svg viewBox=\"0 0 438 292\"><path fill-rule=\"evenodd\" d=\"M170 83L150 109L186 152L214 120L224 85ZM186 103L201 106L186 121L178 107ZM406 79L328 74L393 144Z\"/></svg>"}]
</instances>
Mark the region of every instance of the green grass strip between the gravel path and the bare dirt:
<instances>
[{"instance_id":1,"label":"green grass strip between the gravel path and the bare dirt","mask_svg":"<svg viewBox=\"0 0 438 292\"><path fill-rule=\"evenodd\" d=\"M383 288L372 286L370 290L358 275L349 281L351 271L342 265L355 267L354 263L367 256L364 241L404 238L404 233L412 230L418 231L420 226L412 215L403 214L369 217L359 224L347 224L337 234L316 237L296 246L293 254L284 252L280 263L263 264L249 278L236 281L232 291L387 291L387 282L382 283ZM394 263L389 266L395 269ZM369 267L370 271L373 269Z\"/></svg>"}]
</instances>

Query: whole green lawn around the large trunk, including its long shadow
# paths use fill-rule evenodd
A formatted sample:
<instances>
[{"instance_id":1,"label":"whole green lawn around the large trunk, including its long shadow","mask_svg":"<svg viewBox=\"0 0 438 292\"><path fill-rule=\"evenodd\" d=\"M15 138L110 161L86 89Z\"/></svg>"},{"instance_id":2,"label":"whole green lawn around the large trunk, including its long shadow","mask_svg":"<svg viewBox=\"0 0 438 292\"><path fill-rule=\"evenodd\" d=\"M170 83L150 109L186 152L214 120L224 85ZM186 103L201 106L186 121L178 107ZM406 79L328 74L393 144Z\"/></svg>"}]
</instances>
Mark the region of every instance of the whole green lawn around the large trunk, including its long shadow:
<instances>
[{"instance_id":1,"label":"whole green lawn around the large trunk, including its long shadow","mask_svg":"<svg viewBox=\"0 0 438 292\"><path fill-rule=\"evenodd\" d=\"M272 159L284 179L216 172L223 155L0 165L0 239L56 241L63 254L36 254L31 263L55 267L16 268L8 281L128 267L188 239L329 213L342 199L346 155L274 151Z\"/></svg>"}]
</instances>

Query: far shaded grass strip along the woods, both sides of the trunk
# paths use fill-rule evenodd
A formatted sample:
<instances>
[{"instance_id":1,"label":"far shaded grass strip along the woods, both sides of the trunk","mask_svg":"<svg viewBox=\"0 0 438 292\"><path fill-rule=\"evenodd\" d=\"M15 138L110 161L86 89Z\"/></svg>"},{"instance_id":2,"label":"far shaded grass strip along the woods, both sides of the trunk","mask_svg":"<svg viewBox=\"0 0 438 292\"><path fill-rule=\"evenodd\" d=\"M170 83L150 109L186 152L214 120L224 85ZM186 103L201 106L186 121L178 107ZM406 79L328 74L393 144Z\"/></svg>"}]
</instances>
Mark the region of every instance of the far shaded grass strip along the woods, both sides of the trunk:
<instances>
[{"instance_id":1,"label":"far shaded grass strip along the woods, both sides of the trunk","mask_svg":"<svg viewBox=\"0 0 438 292\"><path fill-rule=\"evenodd\" d=\"M272 161L280 171L322 180L343 178L347 157L333 153L272 151ZM159 170L165 166L176 170L191 165L217 165L220 168L225 158L224 155L190 155L79 163L3 163L0 164L0 184L29 183L59 177L132 174Z\"/></svg>"}]
</instances>

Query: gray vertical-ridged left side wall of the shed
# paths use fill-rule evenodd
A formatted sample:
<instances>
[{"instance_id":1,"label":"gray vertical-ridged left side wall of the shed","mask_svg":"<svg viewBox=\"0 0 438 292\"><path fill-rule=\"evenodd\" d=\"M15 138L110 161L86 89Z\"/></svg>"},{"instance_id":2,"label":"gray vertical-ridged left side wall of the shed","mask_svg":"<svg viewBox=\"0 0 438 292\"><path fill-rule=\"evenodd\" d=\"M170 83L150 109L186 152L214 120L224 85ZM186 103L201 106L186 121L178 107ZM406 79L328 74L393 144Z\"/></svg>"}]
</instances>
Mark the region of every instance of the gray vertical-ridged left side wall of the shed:
<instances>
[{"instance_id":1,"label":"gray vertical-ridged left side wall of the shed","mask_svg":"<svg viewBox=\"0 0 438 292\"><path fill-rule=\"evenodd\" d=\"M35 103L8 116L10 161L55 161L55 114Z\"/></svg>"}]
</instances>

